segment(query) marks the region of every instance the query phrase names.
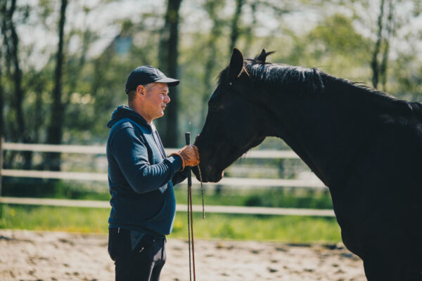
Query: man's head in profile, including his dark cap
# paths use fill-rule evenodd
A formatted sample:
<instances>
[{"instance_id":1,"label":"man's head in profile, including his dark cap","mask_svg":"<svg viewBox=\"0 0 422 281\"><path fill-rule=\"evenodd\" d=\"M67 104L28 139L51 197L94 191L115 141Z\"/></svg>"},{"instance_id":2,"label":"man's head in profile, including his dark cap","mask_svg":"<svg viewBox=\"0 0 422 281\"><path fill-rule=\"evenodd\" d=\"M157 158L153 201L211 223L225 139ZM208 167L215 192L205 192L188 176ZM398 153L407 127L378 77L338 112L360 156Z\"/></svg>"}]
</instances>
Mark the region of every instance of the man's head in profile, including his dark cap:
<instances>
[{"instance_id":1,"label":"man's head in profile, including his dark cap","mask_svg":"<svg viewBox=\"0 0 422 281\"><path fill-rule=\"evenodd\" d=\"M166 77L154 67L137 67L126 82L129 107L151 124L153 119L164 115L165 107L170 103L169 86L177 84L179 80Z\"/></svg>"}]
</instances>

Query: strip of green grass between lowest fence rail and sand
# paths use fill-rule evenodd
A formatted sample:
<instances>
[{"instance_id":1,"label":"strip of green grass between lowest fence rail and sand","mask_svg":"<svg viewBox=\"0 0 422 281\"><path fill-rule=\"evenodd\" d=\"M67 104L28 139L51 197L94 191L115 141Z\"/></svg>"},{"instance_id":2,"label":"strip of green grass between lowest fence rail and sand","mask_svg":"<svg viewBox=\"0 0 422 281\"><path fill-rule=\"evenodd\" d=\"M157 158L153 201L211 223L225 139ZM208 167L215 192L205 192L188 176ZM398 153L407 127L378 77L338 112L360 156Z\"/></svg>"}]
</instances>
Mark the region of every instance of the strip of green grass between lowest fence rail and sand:
<instances>
[{"instance_id":1,"label":"strip of green grass between lowest fence rail and sand","mask_svg":"<svg viewBox=\"0 0 422 281\"><path fill-rule=\"evenodd\" d=\"M0 204L0 228L107 233L108 209ZM194 234L202 239L340 242L335 218L194 214ZM187 237L186 213L179 212L170 237Z\"/></svg>"}]
</instances>

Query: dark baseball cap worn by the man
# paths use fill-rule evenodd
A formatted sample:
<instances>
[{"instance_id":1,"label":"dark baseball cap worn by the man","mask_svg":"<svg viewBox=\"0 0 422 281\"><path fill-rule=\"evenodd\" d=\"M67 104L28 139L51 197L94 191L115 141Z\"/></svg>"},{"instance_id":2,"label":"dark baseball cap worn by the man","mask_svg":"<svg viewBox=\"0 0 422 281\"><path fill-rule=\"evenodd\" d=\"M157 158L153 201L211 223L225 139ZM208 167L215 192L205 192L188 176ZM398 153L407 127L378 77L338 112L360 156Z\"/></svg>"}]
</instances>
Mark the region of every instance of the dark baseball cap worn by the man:
<instances>
[{"instance_id":1,"label":"dark baseball cap worn by the man","mask_svg":"<svg viewBox=\"0 0 422 281\"><path fill-rule=\"evenodd\" d=\"M126 93L135 90L139 85L146 85L153 82L167 83L168 86L177 86L180 81L166 77L158 68L152 67L151 65L141 65L132 70L129 77L127 77Z\"/></svg>"}]
</instances>

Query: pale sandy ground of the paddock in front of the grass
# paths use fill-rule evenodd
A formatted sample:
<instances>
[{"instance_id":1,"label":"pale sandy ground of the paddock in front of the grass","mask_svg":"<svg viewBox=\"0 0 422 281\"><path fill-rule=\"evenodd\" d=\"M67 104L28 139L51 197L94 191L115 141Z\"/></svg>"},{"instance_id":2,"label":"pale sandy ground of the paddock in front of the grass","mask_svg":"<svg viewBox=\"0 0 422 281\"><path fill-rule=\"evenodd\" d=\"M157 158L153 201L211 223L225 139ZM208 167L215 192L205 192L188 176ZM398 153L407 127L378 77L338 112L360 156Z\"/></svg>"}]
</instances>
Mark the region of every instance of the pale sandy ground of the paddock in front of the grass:
<instances>
[{"instance_id":1,"label":"pale sandy ground of the paddock in front of the grass","mask_svg":"<svg viewBox=\"0 0 422 281\"><path fill-rule=\"evenodd\" d=\"M366 280L343 245L196 240L198 281ZM105 235L0 230L0 280L114 280ZM184 281L188 244L167 241L161 280Z\"/></svg>"}]
</instances>

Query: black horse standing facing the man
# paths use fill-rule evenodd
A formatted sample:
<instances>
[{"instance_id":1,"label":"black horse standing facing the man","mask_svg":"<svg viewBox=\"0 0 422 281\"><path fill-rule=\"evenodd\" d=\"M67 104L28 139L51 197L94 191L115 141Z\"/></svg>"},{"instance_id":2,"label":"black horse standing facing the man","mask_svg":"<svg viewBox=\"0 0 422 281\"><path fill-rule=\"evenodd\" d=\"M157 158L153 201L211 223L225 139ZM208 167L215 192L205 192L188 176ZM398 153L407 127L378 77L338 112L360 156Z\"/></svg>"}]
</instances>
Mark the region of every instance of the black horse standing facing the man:
<instances>
[{"instance_id":1,"label":"black horse standing facing the man","mask_svg":"<svg viewBox=\"0 0 422 281\"><path fill-rule=\"evenodd\" d=\"M196 141L203 181L282 138L330 189L368 280L422 280L422 104L267 55L244 60L235 48L219 74Z\"/></svg>"}]
</instances>

